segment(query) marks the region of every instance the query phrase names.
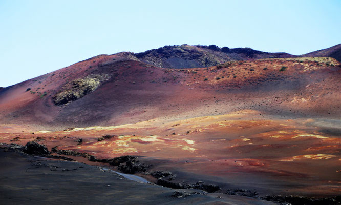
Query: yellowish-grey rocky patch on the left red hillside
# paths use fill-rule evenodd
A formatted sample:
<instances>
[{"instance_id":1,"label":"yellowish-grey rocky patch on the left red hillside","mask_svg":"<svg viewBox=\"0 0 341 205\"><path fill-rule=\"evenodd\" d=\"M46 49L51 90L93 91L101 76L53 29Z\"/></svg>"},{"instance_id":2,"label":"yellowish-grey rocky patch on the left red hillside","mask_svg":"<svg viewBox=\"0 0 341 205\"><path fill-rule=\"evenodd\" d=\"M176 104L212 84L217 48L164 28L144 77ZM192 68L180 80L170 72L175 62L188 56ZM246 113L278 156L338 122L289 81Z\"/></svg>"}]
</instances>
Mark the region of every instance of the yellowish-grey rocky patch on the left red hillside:
<instances>
[{"instance_id":1,"label":"yellowish-grey rocky patch on the left red hillside","mask_svg":"<svg viewBox=\"0 0 341 205\"><path fill-rule=\"evenodd\" d=\"M84 78L78 78L71 83L63 86L63 88L53 96L53 103L55 105L65 105L71 101L77 100L84 95L87 95L105 80L109 79L109 75L89 75Z\"/></svg>"}]
</instances>

